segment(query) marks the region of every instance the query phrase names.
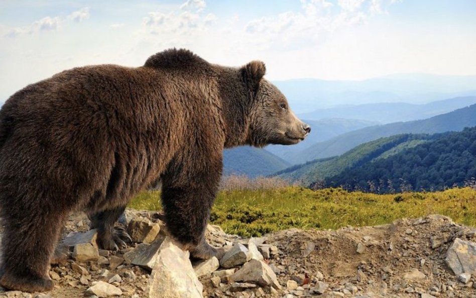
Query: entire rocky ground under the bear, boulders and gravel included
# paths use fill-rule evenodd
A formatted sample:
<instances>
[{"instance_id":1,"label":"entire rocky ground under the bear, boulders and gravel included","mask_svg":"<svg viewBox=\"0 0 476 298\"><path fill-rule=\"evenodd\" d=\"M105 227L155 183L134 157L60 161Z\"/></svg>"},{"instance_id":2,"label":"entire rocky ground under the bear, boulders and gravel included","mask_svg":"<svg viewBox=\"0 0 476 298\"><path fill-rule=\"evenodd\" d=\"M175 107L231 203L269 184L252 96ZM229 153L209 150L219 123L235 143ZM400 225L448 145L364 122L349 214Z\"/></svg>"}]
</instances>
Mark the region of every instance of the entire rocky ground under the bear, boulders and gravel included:
<instances>
[{"instance_id":1,"label":"entire rocky ground under the bear, boulders and gravel included","mask_svg":"<svg viewBox=\"0 0 476 298\"><path fill-rule=\"evenodd\" d=\"M113 252L97 248L84 215L71 216L70 257L50 270L55 289L0 297L476 297L476 229L443 216L252 239L209 226L209 243L227 253L192 263L160 214L126 218L135 243Z\"/></svg>"}]
</instances>

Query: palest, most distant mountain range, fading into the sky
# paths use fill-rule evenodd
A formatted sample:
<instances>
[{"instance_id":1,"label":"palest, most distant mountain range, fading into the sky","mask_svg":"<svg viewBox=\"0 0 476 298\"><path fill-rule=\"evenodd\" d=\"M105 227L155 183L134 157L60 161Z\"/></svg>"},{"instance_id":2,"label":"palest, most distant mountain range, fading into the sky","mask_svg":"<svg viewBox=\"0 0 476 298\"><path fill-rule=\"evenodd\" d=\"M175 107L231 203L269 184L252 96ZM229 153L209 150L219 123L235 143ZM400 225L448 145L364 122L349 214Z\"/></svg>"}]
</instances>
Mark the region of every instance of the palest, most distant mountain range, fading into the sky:
<instances>
[{"instance_id":1,"label":"palest, most distant mountain range, fading into the sky","mask_svg":"<svg viewBox=\"0 0 476 298\"><path fill-rule=\"evenodd\" d=\"M396 74L360 80L293 79L273 81L296 113L339 105L371 103L424 104L476 95L476 76ZM340 117L342 118L342 117Z\"/></svg>"}]
</instances>

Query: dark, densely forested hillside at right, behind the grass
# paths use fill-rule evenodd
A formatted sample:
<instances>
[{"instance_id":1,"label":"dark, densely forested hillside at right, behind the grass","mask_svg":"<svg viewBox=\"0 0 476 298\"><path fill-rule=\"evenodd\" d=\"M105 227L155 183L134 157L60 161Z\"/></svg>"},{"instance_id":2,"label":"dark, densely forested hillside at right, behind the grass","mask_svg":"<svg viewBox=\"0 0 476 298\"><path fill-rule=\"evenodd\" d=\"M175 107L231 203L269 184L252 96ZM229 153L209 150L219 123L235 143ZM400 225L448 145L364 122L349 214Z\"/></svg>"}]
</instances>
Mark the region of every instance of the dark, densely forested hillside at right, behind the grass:
<instances>
[{"instance_id":1,"label":"dark, densely forested hillside at right, behind the grass","mask_svg":"<svg viewBox=\"0 0 476 298\"><path fill-rule=\"evenodd\" d=\"M349 167L323 185L394 192L463 186L476 177L476 127L432 136L386 158Z\"/></svg>"}]
</instances>

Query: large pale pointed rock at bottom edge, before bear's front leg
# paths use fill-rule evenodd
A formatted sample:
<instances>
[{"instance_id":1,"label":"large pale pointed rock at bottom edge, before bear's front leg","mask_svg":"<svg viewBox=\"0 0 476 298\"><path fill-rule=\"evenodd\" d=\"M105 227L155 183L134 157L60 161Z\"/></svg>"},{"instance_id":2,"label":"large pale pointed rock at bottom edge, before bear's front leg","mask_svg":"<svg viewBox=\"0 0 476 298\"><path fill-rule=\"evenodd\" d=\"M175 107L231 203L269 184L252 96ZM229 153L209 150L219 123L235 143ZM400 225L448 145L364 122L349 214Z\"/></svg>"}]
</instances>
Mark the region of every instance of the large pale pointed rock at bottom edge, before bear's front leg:
<instances>
[{"instance_id":1,"label":"large pale pointed rock at bottom edge, before bear's front leg","mask_svg":"<svg viewBox=\"0 0 476 298\"><path fill-rule=\"evenodd\" d=\"M203 298L203 285L198 281L189 257L188 251L165 237L155 257L146 295L150 298Z\"/></svg>"}]
</instances>

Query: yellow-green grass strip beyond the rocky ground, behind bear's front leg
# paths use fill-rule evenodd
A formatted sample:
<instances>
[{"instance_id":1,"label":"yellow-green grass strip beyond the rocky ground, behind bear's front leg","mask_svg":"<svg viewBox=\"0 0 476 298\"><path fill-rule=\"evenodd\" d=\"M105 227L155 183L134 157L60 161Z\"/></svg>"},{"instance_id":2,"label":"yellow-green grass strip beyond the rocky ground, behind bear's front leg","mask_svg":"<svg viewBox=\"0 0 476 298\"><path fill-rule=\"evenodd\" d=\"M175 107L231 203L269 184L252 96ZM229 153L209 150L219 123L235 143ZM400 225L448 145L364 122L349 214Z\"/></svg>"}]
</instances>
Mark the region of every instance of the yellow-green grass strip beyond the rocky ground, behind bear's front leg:
<instances>
[{"instance_id":1,"label":"yellow-green grass strip beyond the rocky ground, behind bear's front leg","mask_svg":"<svg viewBox=\"0 0 476 298\"><path fill-rule=\"evenodd\" d=\"M130 208L160 210L160 191L144 191ZM290 186L220 191L211 223L244 237L288 229L337 229L388 224L400 218L442 214L476 226L476 190L373 194L341 188L311 190Z\"/></svg>"}]
</instances>

